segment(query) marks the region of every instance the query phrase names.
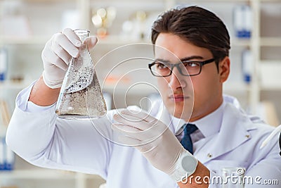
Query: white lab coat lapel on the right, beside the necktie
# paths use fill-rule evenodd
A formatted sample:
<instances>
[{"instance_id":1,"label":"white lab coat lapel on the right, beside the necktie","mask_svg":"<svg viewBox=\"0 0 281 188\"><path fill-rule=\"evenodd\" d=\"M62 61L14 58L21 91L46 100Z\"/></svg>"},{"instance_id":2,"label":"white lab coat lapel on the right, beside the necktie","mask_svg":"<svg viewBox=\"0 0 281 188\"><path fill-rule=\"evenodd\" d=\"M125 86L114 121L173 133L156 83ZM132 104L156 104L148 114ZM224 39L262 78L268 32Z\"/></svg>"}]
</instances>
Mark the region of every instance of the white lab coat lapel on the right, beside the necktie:
<instances>
[{"instance_id":1,"label":"white lab coat lapel on the right, beside the necktie","mask_svg":"<svg viewBox=\"0 0 281 188\"><path fill-rule=\"evenodd\" d=\"M251 139L251 135L247 130L249 126L247 125L251 126L251 121L247 118L247 115L234 106L226 104L221 130L200 149L203 152L198 152L196 157L202 163L207 163L237 148L237 146Z\"/></svg>"}]
</instances>

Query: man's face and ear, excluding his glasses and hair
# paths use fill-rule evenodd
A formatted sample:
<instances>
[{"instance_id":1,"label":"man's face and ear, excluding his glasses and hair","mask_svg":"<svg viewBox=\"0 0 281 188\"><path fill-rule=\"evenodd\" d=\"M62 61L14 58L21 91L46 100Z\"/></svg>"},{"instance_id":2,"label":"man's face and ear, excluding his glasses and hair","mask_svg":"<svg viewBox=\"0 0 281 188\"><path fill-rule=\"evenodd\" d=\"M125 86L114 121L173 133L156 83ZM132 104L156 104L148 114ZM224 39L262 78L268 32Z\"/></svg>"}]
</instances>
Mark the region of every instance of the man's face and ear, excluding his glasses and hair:
<instances>
[{"instance_id":1,"label":"man's face and ear, excluding his glasses and hair","mask_svg":"<svg viewBox=\"0 0 281 188\"><path fill-rule=\"evenodd\" d=\"M160 33L155 45L155 59L173 64L186 58L189 61L214 58L209 49L195 46L170 33ZM223 101L222 83L229 75L229 68L230 61L226 57L219 63L219 70L214 61L203 65L200 75L184 76L175 67L170 76L157 77L159 92L169 113L192 122L216 110Z\"/></svg>"}]
</instances>

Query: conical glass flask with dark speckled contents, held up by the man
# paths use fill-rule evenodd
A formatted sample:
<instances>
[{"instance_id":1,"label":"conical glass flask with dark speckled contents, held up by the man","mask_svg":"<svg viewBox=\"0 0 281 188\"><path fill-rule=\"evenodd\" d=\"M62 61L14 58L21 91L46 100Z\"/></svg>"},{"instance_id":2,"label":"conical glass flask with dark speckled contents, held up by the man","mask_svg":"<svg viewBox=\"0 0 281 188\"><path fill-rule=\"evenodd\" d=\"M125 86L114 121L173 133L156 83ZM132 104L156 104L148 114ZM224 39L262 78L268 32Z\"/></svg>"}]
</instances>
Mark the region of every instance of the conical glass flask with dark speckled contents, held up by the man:
<instances>
[{"instance_id":1,"label":"conical glass flask with dark speckled contents, held up by the man","mask_svg":"<svg viewBox=\"0 0 281 188\"><path fill-rule=\"evenodd\" d=\"M74 32L82 42L80 55L70 61L55 113L65 119L100 118L107 110L91 54L88 46L83 43L89 37L89 30Z\"/></svg>"}]
</instances>

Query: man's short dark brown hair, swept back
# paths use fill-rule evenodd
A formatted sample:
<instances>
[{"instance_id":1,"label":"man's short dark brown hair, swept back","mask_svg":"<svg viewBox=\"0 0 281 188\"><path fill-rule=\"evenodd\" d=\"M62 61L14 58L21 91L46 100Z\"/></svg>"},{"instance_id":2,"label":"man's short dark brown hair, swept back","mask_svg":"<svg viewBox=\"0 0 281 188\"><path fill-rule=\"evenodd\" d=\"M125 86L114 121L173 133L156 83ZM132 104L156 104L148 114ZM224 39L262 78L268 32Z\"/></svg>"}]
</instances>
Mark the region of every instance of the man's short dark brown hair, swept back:
<instances>
[{"instance_id":1,"label":"man's short dark brown hair, swept back","mask_svg":"<svg viewBox=\"0 0 281 188\"><path fill-rule=\"evenodd\" d=\"M152 44L155 44L160 32L178 35L195 46L209 49L217 65L229 55L230 37L226 25L204 8L188 6L162 13L152 25Z\"/></svg>"}]
</instances>

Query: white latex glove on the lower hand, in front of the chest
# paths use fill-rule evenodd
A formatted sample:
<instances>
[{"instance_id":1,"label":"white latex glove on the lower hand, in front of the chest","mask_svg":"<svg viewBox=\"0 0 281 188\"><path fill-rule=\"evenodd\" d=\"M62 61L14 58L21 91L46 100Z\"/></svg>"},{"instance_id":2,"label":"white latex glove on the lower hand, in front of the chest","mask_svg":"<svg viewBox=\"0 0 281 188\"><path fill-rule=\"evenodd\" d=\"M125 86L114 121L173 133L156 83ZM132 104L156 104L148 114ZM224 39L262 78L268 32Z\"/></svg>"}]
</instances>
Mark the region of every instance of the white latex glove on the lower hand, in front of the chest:
<instances>
[{"instance_id":1,"label":"white latex glove on the lower hand, in front of the chest","mask_svg":"<svg viewBox=\"0 0 281 188\"><path fill-rule=\"evenodd\" d=\"M144 112L124 110L115 114L114 119L118 123L112 124L112 129L121 133L119 141L122 144L141 151L155 168L170 175L176 182L182 180L185 172L180 167L181 158L192 155L183 148L169 127Z\"/></svg>"}]
</instances>

